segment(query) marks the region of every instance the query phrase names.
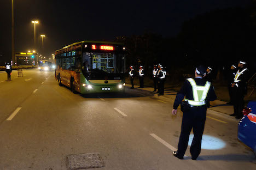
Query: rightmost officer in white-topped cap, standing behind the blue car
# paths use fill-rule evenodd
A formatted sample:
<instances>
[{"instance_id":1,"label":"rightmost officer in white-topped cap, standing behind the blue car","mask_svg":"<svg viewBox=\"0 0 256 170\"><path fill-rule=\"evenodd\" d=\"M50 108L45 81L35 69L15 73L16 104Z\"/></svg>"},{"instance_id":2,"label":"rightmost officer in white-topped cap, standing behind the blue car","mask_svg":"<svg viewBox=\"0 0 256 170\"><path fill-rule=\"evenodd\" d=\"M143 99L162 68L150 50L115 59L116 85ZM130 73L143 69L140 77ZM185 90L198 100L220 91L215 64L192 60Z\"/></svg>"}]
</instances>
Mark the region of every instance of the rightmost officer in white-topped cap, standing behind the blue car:
<instances>
[{"instance_id":1,"label":"rightmost officer in white-topped cap, standing behind the blue car","mask_svg":"<svg viewBox=\"0 0 256 170\"><path fill-rule=\"evenodd\" d=\"M247 93L247 81L249 76L249 71L245 67L245 60L240 60L238 63L238 71L234 77L234 81L231 84L231 93L232 93L232 103L234 105L234 113L230 114L230 116L235 116L237 119L241 119L243 117L243 108L245 107L245 103L243 98Z\"/></svg>"}]
</instances>

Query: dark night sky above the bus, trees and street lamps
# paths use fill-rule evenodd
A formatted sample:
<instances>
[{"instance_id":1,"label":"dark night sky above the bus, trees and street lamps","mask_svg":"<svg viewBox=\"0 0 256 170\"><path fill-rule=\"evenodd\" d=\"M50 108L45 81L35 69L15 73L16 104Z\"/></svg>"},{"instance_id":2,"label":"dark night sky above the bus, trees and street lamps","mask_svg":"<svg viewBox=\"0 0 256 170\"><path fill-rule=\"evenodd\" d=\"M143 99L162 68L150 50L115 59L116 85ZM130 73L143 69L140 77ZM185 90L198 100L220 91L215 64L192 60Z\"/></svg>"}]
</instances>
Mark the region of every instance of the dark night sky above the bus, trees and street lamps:
<instances>
[{"instance_id":1,"label":"dark night sky above the bus, trees and street lamps","mask_svg":"<svg viewBox=\"0 0 256 170\"><path fill-rule=\"evenodd\" d=\"M85 1L14 0L15 51L32 50L38 20L37 45L45 34L45 56L80 40L112 41L119 35L143 34L150 30L173 37L183 21L196 15L230 7L245 7L250 0L169 0L169 1ZM1 0L0 61L11 56L11 0ZM42 50L39 51L42 53Z\"/></svg>"}]
</instances>

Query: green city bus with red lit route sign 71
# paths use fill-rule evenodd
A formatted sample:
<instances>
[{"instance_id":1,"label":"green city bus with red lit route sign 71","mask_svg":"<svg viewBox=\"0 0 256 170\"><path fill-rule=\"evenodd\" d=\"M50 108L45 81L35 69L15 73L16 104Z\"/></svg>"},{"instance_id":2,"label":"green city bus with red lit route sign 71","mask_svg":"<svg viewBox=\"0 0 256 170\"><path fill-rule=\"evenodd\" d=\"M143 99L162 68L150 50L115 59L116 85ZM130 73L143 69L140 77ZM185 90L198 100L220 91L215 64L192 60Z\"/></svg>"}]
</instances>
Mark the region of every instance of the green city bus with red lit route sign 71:
<instances>
[{"instance_id":1,"label":"green city bus with red lit route sign 71","mask_svg":"<svg viewBox=\"0 0 256 170\"><path fill-rule=\"evenodd\" d=\"M72 92L124 92L125 47L107 41L80 41L55 52L55 78Z\"/></svg>"}]
</instances>

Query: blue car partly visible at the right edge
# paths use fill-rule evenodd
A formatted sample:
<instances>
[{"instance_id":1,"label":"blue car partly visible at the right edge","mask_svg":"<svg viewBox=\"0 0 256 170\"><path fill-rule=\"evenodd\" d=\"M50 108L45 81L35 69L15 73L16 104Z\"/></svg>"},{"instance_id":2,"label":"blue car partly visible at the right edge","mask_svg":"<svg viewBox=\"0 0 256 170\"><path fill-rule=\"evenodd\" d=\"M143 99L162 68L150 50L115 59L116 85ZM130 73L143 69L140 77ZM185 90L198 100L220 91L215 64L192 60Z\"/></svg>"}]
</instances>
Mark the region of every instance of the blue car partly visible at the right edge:
<instances>
[{"instance_id":1,"label":"blue car partly visible at the right edge","mask_svg":"<svg viewBox=\"0 0 256 170\"><path fill-rule=\"evenodd\" d=\"M256 156L256 101L250 101L238 123L238 139L254 151Z\"/></svg>"}]
</instances>

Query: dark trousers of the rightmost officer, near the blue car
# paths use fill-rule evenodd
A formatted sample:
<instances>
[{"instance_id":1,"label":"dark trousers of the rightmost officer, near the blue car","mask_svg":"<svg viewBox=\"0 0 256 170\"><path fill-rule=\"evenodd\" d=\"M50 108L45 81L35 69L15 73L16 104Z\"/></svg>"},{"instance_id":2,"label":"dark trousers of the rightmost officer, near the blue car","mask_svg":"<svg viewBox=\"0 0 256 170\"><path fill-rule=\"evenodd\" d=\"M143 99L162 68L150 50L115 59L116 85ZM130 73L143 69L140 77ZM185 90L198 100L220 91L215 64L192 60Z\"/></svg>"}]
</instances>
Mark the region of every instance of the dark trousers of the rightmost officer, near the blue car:
<instances>
[{"instance_id":1,"label":"dark trousers of the rightmost officer, near the blue car","mask_svg":"<svg viewBox=\"0 0 256 170\"><path fill-rule=\"evenodd\" d=\"M245 98L245 95L243 94L243 91L241 88L232 87L232 103L234 105L234 113L238 117L243 116L243 109L245 108L245 102L243 101L243 98Z\"/></svg>"}]
</instances>

